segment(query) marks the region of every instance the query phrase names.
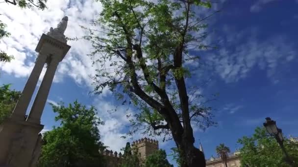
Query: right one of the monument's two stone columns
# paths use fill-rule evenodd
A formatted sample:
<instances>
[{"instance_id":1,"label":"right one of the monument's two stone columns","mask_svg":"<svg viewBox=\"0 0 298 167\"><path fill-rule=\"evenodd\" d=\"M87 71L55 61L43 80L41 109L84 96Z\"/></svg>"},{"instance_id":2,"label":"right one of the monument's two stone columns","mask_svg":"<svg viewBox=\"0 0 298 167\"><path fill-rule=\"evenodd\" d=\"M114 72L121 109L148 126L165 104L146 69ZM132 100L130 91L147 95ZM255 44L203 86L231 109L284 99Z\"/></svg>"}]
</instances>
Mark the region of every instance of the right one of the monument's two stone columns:
<instances>
[{"instance_id":1,"label":"right one of the monument's two stone columns","mask_svg":"<svg viewBox=\"0 0 298 167\"><path fill-rule=\"evenodd\" d=\"M50 86L52 84L59 62L60 59L55 57L55 55L51 55L50 64L48 66L44 79L38 89L31 111L26 121L40 124L41 115L47 103L47 98L50 92Z\"/></svg>"}]
</instances>

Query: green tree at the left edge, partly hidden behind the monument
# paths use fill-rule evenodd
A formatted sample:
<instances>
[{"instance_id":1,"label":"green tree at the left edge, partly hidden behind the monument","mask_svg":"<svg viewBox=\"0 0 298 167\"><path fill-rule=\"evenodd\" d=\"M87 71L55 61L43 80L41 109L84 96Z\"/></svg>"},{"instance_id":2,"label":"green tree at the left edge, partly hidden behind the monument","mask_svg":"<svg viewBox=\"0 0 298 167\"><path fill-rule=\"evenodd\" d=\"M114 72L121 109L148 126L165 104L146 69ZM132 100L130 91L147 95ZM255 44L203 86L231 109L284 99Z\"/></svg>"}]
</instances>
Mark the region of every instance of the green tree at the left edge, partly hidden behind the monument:
<instances>
[{"instance_id":1,"label":"green tree at the left edge, partly hidden behind the monument","mask_svg":"<svg viewBox=\"0 0 298 167\"><path fill-rule=\"evenodd\" d=\"M11 115L21 92L10 90L10 84L0 86L0 124Z\"/></svg>"}]
</instances>

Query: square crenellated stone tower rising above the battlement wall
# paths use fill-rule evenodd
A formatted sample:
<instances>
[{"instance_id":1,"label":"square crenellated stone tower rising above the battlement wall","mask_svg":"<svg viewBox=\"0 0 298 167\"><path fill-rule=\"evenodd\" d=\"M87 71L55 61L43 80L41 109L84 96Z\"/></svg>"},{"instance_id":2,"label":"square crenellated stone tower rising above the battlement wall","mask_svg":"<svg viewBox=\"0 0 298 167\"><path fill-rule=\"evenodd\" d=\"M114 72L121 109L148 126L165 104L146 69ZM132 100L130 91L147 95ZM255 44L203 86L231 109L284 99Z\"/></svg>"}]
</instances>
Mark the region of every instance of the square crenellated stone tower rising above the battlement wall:
<instances>
[{"instance_id":1,"label":"square crenellated stone tower rising above the battlement wall","mask_svg":"<svg viewBox=\"0 0 298 167\"><path fill-rule=\"evenodd\" d=\"M134 141L131 146L138 149L141 161L144 161L146 157L148 157L154 151L158 150L158 141L145 137L140 140Z\"/></svg>"}]
</instances>

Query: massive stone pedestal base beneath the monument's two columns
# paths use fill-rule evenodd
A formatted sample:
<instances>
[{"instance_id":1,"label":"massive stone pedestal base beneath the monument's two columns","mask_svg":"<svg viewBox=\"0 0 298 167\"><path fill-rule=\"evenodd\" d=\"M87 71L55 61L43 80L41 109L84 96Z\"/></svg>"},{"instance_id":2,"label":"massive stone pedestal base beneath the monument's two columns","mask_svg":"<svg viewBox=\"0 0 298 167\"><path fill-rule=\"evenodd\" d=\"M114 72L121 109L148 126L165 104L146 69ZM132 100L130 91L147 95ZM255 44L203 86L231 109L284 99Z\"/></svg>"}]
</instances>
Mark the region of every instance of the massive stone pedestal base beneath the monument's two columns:
<instances>
[{"instance_id":1,"label":"massive stone pedestal base beneath the monument's two columns","mask_svg":"<svg viewBox=\"0 0 298 167\"><path fill-rule=\"evenodd\" d=\"M44 125L9 118L0 125L0 167L28 167Z\"/></svg>"}]
</instances>

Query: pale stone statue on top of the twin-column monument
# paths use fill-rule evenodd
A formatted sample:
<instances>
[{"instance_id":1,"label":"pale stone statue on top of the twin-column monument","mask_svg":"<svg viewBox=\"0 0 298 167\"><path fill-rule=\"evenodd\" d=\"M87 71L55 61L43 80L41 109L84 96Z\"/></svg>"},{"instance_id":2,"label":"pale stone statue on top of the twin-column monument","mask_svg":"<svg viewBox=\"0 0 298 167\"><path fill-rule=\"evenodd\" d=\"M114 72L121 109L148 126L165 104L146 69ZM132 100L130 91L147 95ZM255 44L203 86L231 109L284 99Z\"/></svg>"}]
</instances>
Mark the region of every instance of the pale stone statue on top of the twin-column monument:
<instances>
[{"instance_id":1,"label":"pale stone statue on top of the twin-column monument","mask_svg":"<svg viewBox=\"0 0 298 167\"><path fill-rule=\"evenodd\" d=\"M49 35L50 37L56 40L66 43L67 40L65 38L64 31L66 30L66 27L67 27L67 21L68 21L68 17L67 16L63 17L56 28L50 27L50 31L47 33L47 35Z\"/></svg>"}]
</instances>

